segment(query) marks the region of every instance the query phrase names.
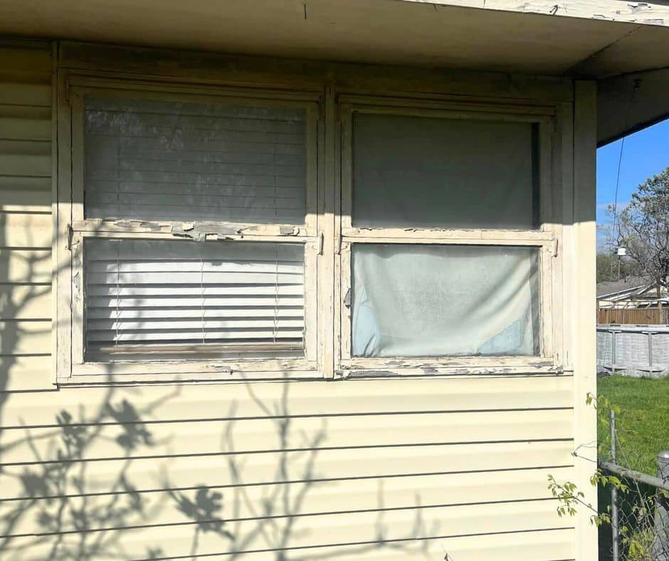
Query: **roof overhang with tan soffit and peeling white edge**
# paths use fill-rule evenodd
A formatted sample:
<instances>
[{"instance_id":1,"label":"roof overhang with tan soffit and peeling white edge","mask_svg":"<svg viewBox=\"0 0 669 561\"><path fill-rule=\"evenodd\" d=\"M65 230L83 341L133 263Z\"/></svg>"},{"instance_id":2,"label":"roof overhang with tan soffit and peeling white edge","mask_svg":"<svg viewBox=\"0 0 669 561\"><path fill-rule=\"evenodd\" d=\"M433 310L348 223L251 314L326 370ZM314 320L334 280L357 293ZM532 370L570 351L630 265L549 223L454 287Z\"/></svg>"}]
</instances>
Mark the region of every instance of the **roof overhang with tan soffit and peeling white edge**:
<instances>
[{"instance_id":1,"label":"roof overhang with tan soffit and peeling white edge","mask_svg":"<svg viewBox=\"0 0 669 561\"><path fill-rule=\"evenodd\" d=\"M653 70L669 68L666 25L664 0L0 2L0 34L12 36L594 78L599 142L669 113L669 73Z\"/></svg>"}]
</instances>

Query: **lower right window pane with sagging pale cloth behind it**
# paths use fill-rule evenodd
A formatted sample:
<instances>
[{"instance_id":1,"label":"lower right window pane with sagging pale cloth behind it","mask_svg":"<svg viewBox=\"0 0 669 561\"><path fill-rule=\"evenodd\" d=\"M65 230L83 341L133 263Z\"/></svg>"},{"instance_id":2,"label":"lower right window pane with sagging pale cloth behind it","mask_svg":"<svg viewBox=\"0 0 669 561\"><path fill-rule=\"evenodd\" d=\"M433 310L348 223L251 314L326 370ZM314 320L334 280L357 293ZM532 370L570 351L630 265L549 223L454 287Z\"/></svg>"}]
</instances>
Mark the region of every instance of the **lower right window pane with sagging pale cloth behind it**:
<instances>
[{"instance_id":1,"label":"lower right window pane with sagging pale cloth behind it","mask_svg":"<svg viewBox=\"0 0 669 561\"><path fill-rule=\"evenodd\" d=\"M539 354L539 250L356 243L352 355Z\"/></svg>"}]
</instances>

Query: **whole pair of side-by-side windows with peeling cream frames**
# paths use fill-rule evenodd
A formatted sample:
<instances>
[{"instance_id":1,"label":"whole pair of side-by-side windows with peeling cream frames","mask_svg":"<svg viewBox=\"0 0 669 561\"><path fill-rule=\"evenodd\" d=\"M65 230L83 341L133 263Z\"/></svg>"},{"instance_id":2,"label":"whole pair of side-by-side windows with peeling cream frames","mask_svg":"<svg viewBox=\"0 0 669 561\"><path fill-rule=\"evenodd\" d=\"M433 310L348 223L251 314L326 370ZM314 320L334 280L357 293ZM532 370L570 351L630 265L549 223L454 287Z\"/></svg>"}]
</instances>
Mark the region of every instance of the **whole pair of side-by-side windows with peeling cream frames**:
<instances>
[{"instance_id":1,"label":"whole pair of side-by-side windows with peeling cream frames","mask_svg":"<svg viewBox=\"0 0 669 561\"><path fill-rule=\"evenodd\" d=\"M59 382L559 368L553 108L60 87Z\"/></svg>"}]
</instances>

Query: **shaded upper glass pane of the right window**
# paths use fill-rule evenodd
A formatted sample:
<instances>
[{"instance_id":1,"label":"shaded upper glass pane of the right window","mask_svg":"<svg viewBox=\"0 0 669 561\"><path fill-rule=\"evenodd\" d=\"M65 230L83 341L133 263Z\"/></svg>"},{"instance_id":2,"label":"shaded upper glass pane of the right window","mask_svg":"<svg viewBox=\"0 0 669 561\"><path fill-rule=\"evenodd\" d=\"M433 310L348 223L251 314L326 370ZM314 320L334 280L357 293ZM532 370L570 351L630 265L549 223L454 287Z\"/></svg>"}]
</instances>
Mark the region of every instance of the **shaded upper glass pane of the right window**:
<instances>
[{"instance_id":1,"label":"shaded upper glass pane of the right window","mask_svg":"<svg viewBox=\"0 0 669 561\"><path fill-rule=\"evenodd\" d=\"M537 227L536 125L356 113L354 226Z\"/></svg>"}]
</instances>

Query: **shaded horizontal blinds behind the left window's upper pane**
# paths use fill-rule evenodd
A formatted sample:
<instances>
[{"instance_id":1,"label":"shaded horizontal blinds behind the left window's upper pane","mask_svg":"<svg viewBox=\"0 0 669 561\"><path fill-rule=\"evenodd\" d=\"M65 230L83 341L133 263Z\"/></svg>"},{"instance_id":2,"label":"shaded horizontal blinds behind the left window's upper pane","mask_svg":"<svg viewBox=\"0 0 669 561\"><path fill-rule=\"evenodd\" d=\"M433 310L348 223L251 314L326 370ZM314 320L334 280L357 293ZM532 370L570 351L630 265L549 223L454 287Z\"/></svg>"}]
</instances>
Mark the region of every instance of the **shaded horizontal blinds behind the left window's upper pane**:
<instances>
[{"instance_id":1,"label":"shaded horizontal blinds behind the left window's upper pane","mask_svg":"<svg viewBox=\"0 0 669 561\"><path fill-rule=\"evenodd\" d=\"M305 222L306 112L85 100L85 217Z\"/></svg>"}]
</instances>

